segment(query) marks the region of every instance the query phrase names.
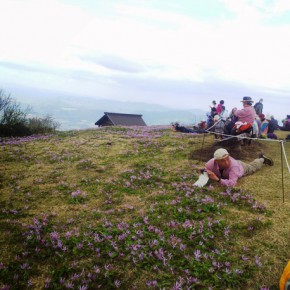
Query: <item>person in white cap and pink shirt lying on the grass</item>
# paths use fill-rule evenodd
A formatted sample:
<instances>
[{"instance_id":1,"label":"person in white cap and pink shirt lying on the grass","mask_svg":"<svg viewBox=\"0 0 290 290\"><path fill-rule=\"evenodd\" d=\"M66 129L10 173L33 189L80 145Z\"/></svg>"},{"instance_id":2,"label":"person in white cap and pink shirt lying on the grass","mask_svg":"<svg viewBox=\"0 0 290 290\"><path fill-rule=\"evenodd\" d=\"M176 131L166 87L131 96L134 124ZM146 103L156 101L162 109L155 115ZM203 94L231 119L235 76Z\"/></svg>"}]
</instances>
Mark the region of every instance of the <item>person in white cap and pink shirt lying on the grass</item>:
<instances>
[{"instance_id":1,"label":"person in white cap and pink shirt lying on the grass","mask_svg":"<svg viewBox=\"0 0 290 290\"><path fill-rule=\"evenodd\" d=\"M273 166L274 162L261 153L259 158L248 164L234 159L226 149L220 148L214 152L213 158L205 164L205 168L209 179L223 186L233 187L239 178L256 172L263 164Z\"/></svg>"}]
</instances>

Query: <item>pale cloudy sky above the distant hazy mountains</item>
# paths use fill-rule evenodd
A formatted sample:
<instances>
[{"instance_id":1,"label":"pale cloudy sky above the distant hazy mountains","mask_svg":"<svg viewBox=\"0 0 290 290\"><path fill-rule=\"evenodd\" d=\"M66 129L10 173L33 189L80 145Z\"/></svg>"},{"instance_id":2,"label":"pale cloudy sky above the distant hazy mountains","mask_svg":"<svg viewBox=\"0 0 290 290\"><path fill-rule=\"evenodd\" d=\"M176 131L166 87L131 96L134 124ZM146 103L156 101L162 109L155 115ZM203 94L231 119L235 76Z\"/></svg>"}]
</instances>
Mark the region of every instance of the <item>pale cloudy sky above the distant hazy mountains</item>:
<instances>
[{"instance_id":1,"label":"pale cloudy sky above the distant hazy mountains","mask_svg":"<svg viewBox=\"0 0 290 290\"><path fill-rule=\"evenodd\" d=\"M0 89L290 114L289 0L0 0ZM41 97L41 96L39 96Z\"/></svg>"}]
</instances>

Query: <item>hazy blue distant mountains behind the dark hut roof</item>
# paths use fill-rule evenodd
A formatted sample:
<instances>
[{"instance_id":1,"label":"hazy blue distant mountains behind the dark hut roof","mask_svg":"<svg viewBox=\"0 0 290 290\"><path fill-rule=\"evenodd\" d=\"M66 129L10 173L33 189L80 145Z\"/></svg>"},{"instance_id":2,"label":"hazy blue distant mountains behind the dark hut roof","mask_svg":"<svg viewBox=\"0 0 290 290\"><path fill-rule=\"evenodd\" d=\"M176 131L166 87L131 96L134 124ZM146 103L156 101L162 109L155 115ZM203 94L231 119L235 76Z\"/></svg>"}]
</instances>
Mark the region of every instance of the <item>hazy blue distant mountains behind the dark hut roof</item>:
<instances>
[{"instance_id":1,"label":"hazy blue distant mountains behind the dark hut roof","mask_svg":"<svg viewBox=\"0 0 290 290\"><path fill-rule=\"evenodd\" d=\"M147 125L169 125L176 121L184 125L193 125L206 118L206 111L199 109L172 110L165 106L146 103L57 94L12 97L22 105L32 107L33 115L51 115L61 124L61 130L95 127L95 122L104 115L104 112L141 114Z\"/></svg>"}]
</instances>

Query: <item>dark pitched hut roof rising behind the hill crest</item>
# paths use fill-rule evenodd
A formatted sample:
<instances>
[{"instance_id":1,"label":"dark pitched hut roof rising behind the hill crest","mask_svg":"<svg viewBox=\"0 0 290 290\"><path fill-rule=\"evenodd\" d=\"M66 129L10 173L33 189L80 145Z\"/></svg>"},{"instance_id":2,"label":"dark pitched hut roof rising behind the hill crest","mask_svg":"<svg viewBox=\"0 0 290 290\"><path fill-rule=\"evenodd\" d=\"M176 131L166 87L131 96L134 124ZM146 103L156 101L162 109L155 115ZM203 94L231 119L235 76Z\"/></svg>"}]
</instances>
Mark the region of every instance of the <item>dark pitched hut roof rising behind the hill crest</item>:
<instances>
[{"instance_id":1,"label":"dark pitched hut roof rising behind the hill crest","mask_svg":"<svg viewBox=\"0 0 290 290\"><path fill-rule=\"evenodd\" d=\"M142 119L142 115L137 114L121 114L104 112L104 116L99 119L95 125L97 126L146 126Z\"/></svg>"}]
</instances>

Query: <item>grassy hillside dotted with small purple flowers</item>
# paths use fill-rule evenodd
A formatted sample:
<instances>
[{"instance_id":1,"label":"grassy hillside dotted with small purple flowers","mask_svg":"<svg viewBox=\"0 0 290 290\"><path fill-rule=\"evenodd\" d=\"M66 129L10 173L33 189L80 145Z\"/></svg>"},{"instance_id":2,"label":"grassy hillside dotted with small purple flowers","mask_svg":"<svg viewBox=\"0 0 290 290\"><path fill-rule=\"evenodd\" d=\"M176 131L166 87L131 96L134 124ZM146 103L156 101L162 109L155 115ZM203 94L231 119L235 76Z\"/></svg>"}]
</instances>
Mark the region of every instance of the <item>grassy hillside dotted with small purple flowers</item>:
<instances>
[{"instance_id":1,"label":"grassy hillside dotted with small purple flowers","mask_svg":"<svg viewBox=\"0 0 290 290\"><path fill-rule=\"evenodd\" d=\"M280 143L229 148L275 162L236 188L194 187L215 149L166 127L3 142L0 289L278 289L290 259Z\"/></svg>"}]
</instances>

